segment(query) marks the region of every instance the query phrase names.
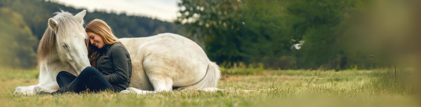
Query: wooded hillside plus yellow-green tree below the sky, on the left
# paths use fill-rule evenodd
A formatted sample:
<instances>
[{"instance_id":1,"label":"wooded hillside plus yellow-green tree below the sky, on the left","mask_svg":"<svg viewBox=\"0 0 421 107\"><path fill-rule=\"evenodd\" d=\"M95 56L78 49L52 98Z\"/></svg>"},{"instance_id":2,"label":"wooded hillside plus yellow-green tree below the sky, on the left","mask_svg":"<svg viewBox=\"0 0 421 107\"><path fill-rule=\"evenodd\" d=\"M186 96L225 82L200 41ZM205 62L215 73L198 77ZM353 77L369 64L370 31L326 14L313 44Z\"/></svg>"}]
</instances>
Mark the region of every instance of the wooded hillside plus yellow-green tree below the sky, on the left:
<instances>
[{"instance_id":1,"label":"wooded hillside plus yellow-green tree below the sky, on the left","mask_svg":"<svg viewBox=\"0 0 421 107\"><path fill-rule=\"evenodd\" d=\"M76 9L44 0L0 0L0 59L2 66L32 68L37 65L38 41L47 28L48 18L61 10L79 13ZM85 24L93 19L105 20L117 38L146 37L159 33L180 33L179 25L154 18L107 13L103 10L88 12Z\"/></svg>"}]
</instances>

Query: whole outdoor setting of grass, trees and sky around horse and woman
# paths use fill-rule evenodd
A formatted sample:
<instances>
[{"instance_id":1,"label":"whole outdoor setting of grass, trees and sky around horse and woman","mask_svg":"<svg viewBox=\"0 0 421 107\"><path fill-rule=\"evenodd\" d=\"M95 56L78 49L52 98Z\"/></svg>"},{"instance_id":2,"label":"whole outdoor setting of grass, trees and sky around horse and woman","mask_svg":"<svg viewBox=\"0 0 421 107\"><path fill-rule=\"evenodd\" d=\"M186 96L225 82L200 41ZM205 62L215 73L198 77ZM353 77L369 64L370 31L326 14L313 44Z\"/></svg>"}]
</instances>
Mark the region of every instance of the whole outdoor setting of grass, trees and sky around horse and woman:
<instances>
[{"instance_id":1,"label":"whole outdoor setting of grass, trees and sky around horse and woman","mask_svg":"<svg viewBox=\"0 0 421 107\"><path fill-rule=\"evenodd\" d=\"M87 10L85 24L102 19L118 38L185 36L220 65L224 91L12 94L37 84L37 46L60 10ZM0 104L420 107L420 34L421 0L0 0Z\"/></svg>"}]
</instances>

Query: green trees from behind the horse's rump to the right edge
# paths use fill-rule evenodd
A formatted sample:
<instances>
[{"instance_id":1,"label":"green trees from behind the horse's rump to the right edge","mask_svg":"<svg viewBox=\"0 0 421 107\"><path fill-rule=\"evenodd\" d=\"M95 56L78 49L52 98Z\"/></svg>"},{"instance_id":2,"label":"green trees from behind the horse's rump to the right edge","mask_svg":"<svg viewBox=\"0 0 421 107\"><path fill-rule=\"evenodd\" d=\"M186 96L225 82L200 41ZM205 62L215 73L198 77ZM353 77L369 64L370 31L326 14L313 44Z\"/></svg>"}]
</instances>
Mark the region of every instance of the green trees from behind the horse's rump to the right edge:
<instances>
[{"instance_id":1,"label":"green trees from behind the horse's rump to the right edge","mask_svg":"<svg viewBox=\"0 0 421 107\"><path fill-rule=\"evenodd\" d=\"M418 66L419 10L412 0L181 0L178 5L175 23L203 38L208 57L222 67Z\"/></svg>"}]
</instances>

